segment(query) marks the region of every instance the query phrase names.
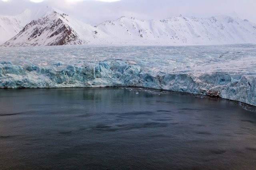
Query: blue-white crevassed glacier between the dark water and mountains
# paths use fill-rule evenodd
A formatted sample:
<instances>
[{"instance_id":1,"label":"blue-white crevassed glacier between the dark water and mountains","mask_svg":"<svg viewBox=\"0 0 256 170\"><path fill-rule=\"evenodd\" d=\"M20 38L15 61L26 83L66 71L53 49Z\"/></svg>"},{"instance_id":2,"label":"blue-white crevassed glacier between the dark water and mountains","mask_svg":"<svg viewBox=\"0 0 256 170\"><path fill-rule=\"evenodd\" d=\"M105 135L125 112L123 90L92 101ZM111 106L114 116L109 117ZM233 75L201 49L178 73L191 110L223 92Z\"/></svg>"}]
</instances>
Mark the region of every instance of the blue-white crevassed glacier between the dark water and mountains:
<instances>
[{"instance_id":1,"label":"blue-white crevassed glacier between the dark water and mountains","mask_svg":"<svg viewBox=\"0 0 256 170\"><path fill-rule=\"evenodd\" d=\"M256 106L256 45L0 48L0 88L135 86Z\"/></svg>"}]
</instances>

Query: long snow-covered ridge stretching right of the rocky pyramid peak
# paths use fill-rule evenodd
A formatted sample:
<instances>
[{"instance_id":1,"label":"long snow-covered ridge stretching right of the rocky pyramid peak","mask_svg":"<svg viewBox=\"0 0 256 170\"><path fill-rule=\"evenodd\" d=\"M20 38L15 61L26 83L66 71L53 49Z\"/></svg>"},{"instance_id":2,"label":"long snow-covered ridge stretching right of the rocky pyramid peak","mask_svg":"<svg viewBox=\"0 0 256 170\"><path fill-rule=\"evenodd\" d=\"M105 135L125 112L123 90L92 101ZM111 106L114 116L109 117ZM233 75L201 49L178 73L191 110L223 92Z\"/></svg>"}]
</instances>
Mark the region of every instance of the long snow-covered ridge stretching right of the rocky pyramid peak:
<instances>
[{"instance_id":1,"label":"long snow-covered ridge stretching right of the rocky pyramid peak","mask_svg":"<svg viewBox=\"0 0 256 170\"><path fill-rule=\"evenodd\" d=\"M256 43L256 24L230 16L172 17L161 21L121 17L98 25L118 43L202 45ZM115 43L115 42L114 42Z\"/></svg>"}]
</instances>

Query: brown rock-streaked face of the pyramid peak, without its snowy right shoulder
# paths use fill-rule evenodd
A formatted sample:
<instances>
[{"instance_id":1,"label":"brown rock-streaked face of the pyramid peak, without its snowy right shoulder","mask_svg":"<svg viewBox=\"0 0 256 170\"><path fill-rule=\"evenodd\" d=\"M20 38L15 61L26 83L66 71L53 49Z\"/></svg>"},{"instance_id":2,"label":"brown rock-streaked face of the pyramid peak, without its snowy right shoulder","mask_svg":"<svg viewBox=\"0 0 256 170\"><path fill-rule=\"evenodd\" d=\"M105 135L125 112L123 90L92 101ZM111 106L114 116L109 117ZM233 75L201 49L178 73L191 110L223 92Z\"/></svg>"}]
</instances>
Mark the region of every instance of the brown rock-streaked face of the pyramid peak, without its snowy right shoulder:
<instances>
[{"instance_id":1,"label":"brown rock-streaked face of the pyramid peak, without its snowy right shoulder","mask_svg":"<svg viewBox=\"0 0 256 170\"><path fill-rule=\"evenodd\" d=\"M77 33L65 24L66 15L50 14L28 23L6 46L84 44ZM67 20L68 21L68 20Z\"/></svg>"}]
</instances>

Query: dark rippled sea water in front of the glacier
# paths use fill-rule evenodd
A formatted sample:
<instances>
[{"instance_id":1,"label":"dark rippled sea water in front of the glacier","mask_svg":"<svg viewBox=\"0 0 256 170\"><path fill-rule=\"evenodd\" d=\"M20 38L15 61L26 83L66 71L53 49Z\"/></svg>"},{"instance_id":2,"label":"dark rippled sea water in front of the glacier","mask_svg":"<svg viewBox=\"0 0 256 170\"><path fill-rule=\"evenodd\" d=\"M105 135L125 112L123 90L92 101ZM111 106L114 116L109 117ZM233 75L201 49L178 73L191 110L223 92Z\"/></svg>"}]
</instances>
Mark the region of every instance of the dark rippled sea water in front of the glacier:
<instances>
[{"instance_id":1,"label":"dark rippled sea water in front of the glacier","mask_svg":"<svg viewBox=\"0 0 256 170\"><path fill-rule=\"evenodd\" d=\"M0 169L256 169L255 107L144 88L0 89Z\"/></svg>"}]
</instances>

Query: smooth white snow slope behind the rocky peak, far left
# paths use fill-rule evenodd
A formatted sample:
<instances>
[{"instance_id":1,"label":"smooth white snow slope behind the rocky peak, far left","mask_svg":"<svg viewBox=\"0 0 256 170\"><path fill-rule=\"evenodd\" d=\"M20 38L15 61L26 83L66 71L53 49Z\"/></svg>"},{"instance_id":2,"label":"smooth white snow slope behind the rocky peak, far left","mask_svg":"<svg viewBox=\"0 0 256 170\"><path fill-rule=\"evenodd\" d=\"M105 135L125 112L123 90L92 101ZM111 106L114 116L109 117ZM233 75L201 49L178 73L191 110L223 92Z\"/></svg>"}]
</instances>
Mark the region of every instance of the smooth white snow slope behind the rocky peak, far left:
<instances>
[{"instance_id":1,"label":"smooth white snow slope behind the rocky peak, far left","mask_svg":"<svg viewBox=\"0 0 256 170\"><path fill-rule=\"evenodd\" d=\"M0 44L17 35L27 23L50 14L52 10L52 8L26 9L17 16L0 16Z\"/></svg>"}]
</instances>

